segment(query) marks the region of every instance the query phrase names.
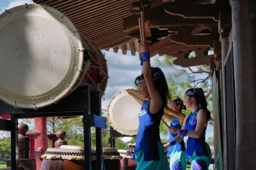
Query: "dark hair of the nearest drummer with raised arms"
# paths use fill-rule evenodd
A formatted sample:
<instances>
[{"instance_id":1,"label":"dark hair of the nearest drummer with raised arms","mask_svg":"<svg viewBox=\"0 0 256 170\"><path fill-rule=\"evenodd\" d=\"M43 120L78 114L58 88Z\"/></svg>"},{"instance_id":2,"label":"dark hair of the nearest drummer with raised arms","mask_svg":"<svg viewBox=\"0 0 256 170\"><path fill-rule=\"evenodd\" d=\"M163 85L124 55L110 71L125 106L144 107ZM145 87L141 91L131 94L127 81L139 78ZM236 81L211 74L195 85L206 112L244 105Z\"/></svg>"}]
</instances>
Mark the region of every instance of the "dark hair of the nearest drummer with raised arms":
<instances>
[{"instance_id":1,"label":"dark hair of the nearest drummer with raised arms","mask_svg":"<svg viewBox=\"0 0 256 170\"><path fill-rule=\"evenodd\" d=\"M164 73L159 67L151 67L151 70L154 86L161 95L163 105L167 106L167 101L170 101L170 94ZM143 74L138 76L134 81L135 85L138 86L138 82L143 79L145 79Z\"/></svg>"}]
</instances>

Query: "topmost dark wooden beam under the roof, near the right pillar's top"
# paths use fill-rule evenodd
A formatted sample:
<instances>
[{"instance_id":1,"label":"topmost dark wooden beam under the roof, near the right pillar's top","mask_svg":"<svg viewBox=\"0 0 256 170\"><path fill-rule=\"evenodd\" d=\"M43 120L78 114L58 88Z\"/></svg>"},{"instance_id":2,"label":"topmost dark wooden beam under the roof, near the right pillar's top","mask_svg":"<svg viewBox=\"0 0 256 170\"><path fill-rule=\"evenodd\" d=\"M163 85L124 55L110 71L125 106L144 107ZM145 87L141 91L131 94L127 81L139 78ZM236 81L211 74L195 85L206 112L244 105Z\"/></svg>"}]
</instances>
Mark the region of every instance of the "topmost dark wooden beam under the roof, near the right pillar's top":
<instances>
[{"instance_id":1,"label":"topmost dark wooden beam under the roof, near the right pillar's top","mask_svg":"<svg viewBox=\"0 0 256 170\"><path fill-rule=\"evenodd\" d=\"M219 20L219 12L230 10L231 7L227 0L217 1L214 4L194 4L188 3L172 3L165 7L165 11L170 15L177 15L184 18L212 18Z\"/></svg>"}]
</instances>

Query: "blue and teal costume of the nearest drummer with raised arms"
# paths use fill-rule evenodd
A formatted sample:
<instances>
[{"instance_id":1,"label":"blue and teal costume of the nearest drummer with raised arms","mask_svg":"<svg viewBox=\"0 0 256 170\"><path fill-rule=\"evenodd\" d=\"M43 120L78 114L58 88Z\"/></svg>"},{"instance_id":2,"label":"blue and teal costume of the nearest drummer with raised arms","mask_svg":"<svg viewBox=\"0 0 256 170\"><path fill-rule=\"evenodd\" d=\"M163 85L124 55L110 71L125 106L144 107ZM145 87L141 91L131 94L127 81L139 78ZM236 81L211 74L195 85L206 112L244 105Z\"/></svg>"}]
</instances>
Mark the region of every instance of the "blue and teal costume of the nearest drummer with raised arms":
<instances>
[{"instance_id":1,"label":"blue and teal costume of the nearest drummer with raised arms","mask_svg":"<svg viewBox=\"0 0 256 170\"><path fill-rule=\"evenodd\" d=\"M134 150L138 162L136 169L168 170L170 168L159 135L164 108L162 107L156 114L151 114L149 104L150 100L143 103L139 115L140 123Z\"/></svg>"}]
</instances>

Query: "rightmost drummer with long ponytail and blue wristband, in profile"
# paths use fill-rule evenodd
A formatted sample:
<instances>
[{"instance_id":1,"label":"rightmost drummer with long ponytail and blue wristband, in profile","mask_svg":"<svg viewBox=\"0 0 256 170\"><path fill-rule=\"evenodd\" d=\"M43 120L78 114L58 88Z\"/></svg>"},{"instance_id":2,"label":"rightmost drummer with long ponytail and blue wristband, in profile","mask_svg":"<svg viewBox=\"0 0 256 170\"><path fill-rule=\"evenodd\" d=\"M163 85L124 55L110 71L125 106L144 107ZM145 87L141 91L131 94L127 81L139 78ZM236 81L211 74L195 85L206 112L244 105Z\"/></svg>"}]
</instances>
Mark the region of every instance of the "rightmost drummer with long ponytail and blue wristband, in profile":
<instances>
[{"instance_id":1,"label":"rightmost drummer with long ponytail and blue wristband, in profile","mask_svg":"<svg viewBox=\"0 0 256 170\"><path fill-rule=\"evenodd\" d=\"M207 109L204 91L201 88L189 89L185 93L184 104L192 112L184 119L181 129L171 128L172 133L179 133L174 138L180 143L184 136L188 136L186 157L191 160L191 169L206 170L211 163L211 150L205 142L205 131L211 113Z\"/></svg>"}]
</instances>

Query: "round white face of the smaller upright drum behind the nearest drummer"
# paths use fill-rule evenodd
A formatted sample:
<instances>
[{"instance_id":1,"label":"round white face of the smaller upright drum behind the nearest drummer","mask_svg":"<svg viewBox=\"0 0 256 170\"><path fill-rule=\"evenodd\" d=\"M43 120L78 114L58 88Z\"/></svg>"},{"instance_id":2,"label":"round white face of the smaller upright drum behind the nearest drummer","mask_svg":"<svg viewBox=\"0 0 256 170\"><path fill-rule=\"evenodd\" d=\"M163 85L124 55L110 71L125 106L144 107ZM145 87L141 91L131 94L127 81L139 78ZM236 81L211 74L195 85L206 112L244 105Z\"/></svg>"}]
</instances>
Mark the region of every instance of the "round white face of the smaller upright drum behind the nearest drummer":
<instances>
[{"instance_id":1,"label":"round white face of the smaller upright drum behind the nearest drummer","mask_svg":"<svg viewBox=\"0 0 256 170\"><path fill-rule=\"evenodd\" d=\"M136 135L143 101L145 98L138 90L126 89L115 94L108 105L108 121L111 127L123 135Z\"/></svg>"}]
</instances>

